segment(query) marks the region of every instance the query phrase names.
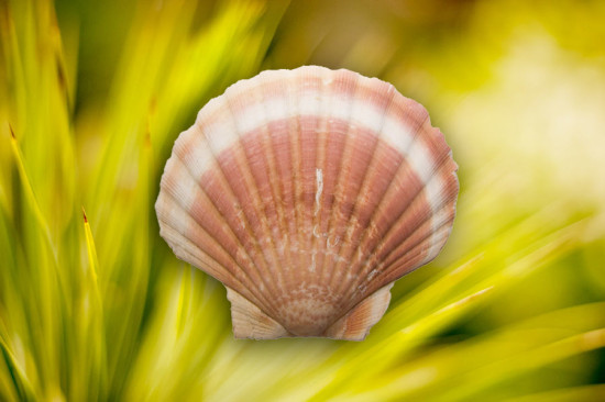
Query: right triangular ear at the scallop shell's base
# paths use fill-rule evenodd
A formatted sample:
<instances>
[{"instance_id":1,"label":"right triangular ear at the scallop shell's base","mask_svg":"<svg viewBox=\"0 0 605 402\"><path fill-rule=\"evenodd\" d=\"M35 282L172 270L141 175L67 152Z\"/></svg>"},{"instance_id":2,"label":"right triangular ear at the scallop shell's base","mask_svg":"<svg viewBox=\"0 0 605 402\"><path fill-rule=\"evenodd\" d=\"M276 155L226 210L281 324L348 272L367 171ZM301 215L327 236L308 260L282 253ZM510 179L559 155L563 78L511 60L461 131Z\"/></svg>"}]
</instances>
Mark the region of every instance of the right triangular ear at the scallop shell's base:
<instances>
[{"instance_id":1,"label":"right triangular ear at the scallop shell's base","mask_svg":"<svg viewBox=\"0 0 605 402\"><path fill-rule=\"evenodd\" d=\"M382 319L388 308L391 288L393 288L393 282L364 299L346 315L326 330L324 336L345 340L365 339L370 328Z\"/></svg>"}]
</instances>

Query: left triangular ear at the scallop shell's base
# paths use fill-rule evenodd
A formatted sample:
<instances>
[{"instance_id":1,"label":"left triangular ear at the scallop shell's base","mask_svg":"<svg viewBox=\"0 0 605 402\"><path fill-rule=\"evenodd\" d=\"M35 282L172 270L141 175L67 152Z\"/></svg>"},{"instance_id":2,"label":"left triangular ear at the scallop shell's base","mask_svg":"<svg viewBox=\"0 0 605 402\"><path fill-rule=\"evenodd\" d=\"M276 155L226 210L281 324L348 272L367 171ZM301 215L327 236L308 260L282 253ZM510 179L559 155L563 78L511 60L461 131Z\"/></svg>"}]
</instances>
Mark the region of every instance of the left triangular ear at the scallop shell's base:
<instances>
[{"instance_id":1,"label":"left triangular ear at the scallop shell's base","mask_svg":"<svg viewBox=\"0 0 605 402\"><path fill-rule=\"evenodd\" d=\"M275 339L292 336L286 328L243 295L231 288L226 288L227 299L231 302L231 321L235 338Z\"/></svg>"}]
</instances>

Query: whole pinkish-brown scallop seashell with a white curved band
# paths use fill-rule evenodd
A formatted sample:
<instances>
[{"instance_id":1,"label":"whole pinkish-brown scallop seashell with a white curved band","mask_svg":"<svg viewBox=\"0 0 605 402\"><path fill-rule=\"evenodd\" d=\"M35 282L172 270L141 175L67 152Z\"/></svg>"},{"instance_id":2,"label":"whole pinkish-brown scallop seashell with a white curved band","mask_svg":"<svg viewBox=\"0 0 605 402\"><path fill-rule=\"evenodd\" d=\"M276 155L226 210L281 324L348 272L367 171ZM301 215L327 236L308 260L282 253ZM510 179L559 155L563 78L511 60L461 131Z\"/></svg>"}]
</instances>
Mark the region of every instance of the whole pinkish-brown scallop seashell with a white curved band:
<instances>
[{"instance_id":1,"label":"whole pinkish-brown scallop seashell with a white curved band","mask_svg":"<svg viewBox=\"0 0 605 402\"><path fill-rule=\"evenodd\" d=\"M227 287L235 337L361 340L452 228L457 165L425 108L345 69L232 85L175 142L156 202Z\"/></svg>"}]
</instances>

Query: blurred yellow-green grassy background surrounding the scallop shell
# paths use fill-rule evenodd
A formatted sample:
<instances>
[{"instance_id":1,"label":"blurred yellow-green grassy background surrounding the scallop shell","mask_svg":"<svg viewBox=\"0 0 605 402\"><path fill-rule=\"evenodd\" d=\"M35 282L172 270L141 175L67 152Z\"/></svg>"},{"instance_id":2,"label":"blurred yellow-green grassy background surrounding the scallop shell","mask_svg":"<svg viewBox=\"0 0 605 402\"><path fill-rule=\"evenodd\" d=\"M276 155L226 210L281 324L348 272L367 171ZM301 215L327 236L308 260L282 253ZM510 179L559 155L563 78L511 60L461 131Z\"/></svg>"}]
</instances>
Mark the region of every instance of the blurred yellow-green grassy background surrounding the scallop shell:
<instances>
[{"instance_id":1,"label":"blurred yellow-green grassy background surrounding the scallop shell","mask_svg":"<svg viewBox=\"0 0 605 402\"><path fill-rule=\"evenodd\" d=\"M604 22L598 0L0 0L0 400L605 400ZM234 340L224 288L158 235L160 175L210 98L307 64L428 109L458 216L366 340Z\"/></svg>"}]
</instances>

